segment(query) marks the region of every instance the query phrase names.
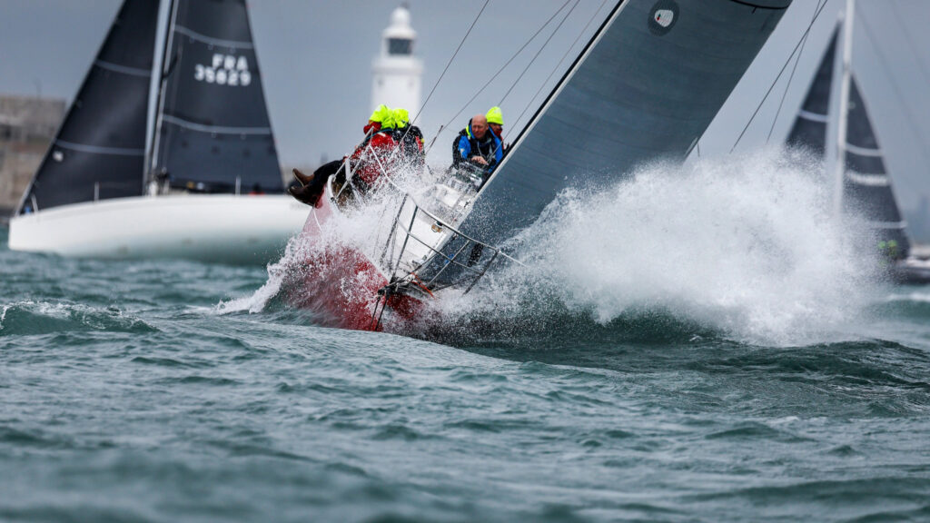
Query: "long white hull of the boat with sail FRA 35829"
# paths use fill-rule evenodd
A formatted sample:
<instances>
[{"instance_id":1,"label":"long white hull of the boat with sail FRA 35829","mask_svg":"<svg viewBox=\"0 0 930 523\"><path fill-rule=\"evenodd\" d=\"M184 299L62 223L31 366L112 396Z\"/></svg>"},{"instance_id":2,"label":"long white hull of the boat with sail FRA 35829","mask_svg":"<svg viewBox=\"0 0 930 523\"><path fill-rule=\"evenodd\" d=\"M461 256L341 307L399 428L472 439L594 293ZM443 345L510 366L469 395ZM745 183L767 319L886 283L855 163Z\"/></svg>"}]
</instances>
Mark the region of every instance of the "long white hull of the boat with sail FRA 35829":
<instances>
[{"instance_id":1,"label":"long white hull of the boat with sail FRA 35829","mask_svg":"<svg viewBox=\"0 0 930 523\"><path fill-rule=\"evenodd\" d=\"M281 254L306 216L305 206L278 194L113 198L19 216L9 248L81 258L264 263Z\"/></svg>"}]
</instances>

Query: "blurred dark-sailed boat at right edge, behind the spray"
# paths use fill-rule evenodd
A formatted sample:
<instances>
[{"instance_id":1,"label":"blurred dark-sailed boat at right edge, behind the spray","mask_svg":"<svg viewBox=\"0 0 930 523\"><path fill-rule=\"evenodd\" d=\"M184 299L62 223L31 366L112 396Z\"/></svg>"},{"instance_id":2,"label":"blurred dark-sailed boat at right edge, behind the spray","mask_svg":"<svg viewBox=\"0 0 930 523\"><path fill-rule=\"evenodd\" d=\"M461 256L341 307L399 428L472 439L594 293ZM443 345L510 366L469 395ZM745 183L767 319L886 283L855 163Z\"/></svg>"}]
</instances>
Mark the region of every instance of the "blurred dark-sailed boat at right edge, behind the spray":
<instances>
[{"instance_id":1,"label":"blurred dark-sailed boat at right edge, behind the spray","mask_svg":"<svg viewBox=\"0 0 930 523\"><path fill-rule=\"evenodd\" d=\"M930 267L909 260L910 239L907 222L897 206L892 180L885 167L869 110L856 75L852 71L852 26L855 4L847 3L844 22L839 24L824 57L820 60L804 104L788 135L790 147L804 147L817 155L828 153L827 128L830 123L830 98L833 69L842 60L841 94L838 111L837 166L834 210L867 230L875 247L890 263L892 276L901 281L930 282ZM840 29L844 50L837 56Z\"/></svg>"}]
</instances>

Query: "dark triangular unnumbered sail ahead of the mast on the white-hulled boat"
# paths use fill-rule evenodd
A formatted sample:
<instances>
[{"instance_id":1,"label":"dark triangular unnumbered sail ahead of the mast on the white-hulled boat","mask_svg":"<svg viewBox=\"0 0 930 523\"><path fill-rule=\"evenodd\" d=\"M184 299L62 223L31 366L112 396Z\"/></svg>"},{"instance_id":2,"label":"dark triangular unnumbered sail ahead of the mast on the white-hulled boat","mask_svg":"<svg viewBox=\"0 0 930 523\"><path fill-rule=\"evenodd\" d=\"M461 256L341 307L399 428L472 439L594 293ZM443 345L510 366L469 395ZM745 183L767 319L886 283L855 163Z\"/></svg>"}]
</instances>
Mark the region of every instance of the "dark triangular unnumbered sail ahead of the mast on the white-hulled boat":
<instances>
[{"instance_id":1,"label":"dark triangular unnumbered sail ahead of the mast on the white-hulled boat","mask_svg":"<svg viewBox=\"0 0 930 523\"><path fill-rule=\"evenodd\" d=\"M157 0L126 0L19 213L142 194Z\"/></svg>"}]
</instances>

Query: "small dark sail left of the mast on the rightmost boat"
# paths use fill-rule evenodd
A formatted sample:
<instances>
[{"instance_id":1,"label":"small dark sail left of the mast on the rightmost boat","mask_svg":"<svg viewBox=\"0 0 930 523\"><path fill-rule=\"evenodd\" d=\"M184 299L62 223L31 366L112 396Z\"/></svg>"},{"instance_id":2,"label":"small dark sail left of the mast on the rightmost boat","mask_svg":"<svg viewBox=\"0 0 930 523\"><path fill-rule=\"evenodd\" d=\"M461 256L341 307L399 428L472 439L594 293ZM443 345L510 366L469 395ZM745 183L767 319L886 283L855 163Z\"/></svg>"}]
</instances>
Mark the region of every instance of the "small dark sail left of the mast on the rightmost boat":
<instances>
[{"instance_id":1,"label":"small dark sail left of the mast on the rightmost boat","mask_svg":"<svg viewBox=\"0 0 930 523\"><path fill-rule=\"evenodd\" d=\"M830 46L820 60L817 74L807 90L804 105L788 134L790 147L804 147L819 157L827 151L827 124L830 121L830 90L833 85L833 66L839 42L839 28L833 31Z\"/></svg>"}]
</instances>

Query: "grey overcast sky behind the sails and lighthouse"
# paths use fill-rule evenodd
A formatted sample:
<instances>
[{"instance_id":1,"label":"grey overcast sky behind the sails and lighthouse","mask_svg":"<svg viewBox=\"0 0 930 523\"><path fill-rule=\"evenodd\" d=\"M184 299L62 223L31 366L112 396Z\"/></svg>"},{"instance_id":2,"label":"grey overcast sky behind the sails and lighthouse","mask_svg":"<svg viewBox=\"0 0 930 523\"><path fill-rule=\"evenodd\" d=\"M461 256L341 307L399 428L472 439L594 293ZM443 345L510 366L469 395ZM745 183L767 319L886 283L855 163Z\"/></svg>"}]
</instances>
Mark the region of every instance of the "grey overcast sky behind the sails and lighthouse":
<instances>
[{"instance_id":1,"label":"grey overcast sky behind the sails and lighthouse","mask_svg":"<svg viewBox=\"0 0 930 523\"><path fill-rule=\"evenodd\" d=\"M737 151L763 146L776 122L772 141L783 141L817 67L844 0L827 0L804 44L793 80L786 74L753 120ZM606 2L612 4L613 2ZM788 60L812 20L818 0L794 0L769 44L753 63L733 96L700 142L702 154L727 154L765 91ZM35 94L71 101L106 34L120 0L0 0L0 93ZM265 95L281 160L315 165L326 154L344 154L361 137L369 113L371 61L379 52L381 31L398 2L374 0L250 0ZM415 47L425 64L423 97L436 84L446 62L483 2L411 0ZM466 46L439 83L419 121L432 140L498 67L534 34L565 0L491 0ZM859 0L854 69L896 183L898 198L914 207L930 195L930 2ZM561 76L609 6L580 0L539 58L501 104L507 129L524 123L542 96ZM565 9L567 11L567 8ZM565 11L563 11L565 12ZM587 32L582 28L595 19ZM561 18L556 18L556 21ZM436 147L447 154L468 116L484 113L504 93L551 33L554 23L514 60L498 80L453 122ZM556 63L580 35L578 47L561 68ZM786 92L784 106L777 107Z\"/></svg>"}]
</instances>

